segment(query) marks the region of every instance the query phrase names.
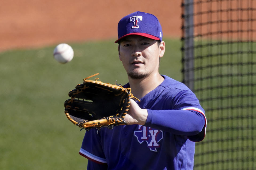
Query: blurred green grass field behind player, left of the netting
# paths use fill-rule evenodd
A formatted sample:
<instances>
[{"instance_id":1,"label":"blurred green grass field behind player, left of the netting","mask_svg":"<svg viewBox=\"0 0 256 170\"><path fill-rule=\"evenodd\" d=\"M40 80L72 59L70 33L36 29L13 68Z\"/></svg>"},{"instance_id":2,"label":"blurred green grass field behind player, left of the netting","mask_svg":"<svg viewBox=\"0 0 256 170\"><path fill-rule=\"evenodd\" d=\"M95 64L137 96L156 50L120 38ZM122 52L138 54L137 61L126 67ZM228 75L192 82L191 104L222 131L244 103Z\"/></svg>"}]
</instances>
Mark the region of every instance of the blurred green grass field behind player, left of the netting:
<instances>
[{"instance_id":1,"label":"blurred green grass field behind player, left of the netting","mask_svg":"<svg viewBox=\"0 0 256 170\"><path fill-rule=\"evenodd\" d=\"M113 42L70 43L74 58L66 64L54 60L55 45L0 53L0 169L86 169L78 154L85 131L66 118L63 103L95 73L102 82L127 83ZM165 42L159 72L181 81L181 43Z\"/></svg>"}]
</instances>

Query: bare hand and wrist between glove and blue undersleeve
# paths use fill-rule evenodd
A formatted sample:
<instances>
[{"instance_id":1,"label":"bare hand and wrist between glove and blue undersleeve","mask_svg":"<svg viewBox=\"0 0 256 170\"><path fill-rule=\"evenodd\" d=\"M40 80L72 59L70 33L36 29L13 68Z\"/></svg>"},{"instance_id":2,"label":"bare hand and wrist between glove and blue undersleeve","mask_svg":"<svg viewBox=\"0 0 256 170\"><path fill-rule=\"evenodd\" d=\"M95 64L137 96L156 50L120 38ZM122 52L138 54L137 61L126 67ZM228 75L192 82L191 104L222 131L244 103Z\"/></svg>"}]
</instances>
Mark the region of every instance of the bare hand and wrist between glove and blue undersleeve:
<instances>
[{"instance_id":1,"label":"bare hand and wrist between glove and blue undersleeve","mask_svg":"<svg viewBox=\"0 0 256 170\"><path fill-rule=\"evenodd\" d=\"M147 120L147 109L141 109L132 99L130 101L130 108L124 118L124 121L126 121L127 125L145 125Z\"/></svg>"}]
</instances>

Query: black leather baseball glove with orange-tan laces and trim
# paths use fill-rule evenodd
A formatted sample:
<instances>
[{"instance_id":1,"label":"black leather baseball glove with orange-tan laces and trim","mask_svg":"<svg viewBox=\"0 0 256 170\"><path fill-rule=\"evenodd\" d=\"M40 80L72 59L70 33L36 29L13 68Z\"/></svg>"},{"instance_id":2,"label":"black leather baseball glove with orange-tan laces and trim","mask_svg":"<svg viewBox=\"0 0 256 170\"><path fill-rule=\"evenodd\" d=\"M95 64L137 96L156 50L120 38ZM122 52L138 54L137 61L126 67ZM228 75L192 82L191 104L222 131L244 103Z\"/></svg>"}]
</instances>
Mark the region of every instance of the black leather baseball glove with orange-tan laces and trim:
<instances>
[{"instance_id":1,"label":"black leather baseball glove with orange-tan laces and trim","mask_svg":"<svg viewBox=\"0 0 256 170\"><path fill-rule=\"evenodd\" d=\"M94 80L83 79L69 92L71 99L64 103L67 118L85 130L107 127L113 129L117 125L125 125L123 120L130 107L130 99L136 97L130 88ZM137 99L139 100L139 99Z\"/></svg>"}]
</instances>

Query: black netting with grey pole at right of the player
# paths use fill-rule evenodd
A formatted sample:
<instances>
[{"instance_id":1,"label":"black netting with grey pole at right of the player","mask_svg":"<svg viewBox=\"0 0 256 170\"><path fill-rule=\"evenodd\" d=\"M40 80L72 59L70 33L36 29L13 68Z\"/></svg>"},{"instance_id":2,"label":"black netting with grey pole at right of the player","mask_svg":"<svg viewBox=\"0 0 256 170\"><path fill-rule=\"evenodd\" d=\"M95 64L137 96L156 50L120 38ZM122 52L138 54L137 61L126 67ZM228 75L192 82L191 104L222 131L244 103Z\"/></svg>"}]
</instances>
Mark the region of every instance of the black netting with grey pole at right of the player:
<instances>
[{"instance_id":1,"label":"black netting with grey pole at right of the player","mask_svg":"<svg viewBox=\"0 0 256 170\"><path fill-rule=\"evenodd\" d=\"M256 1L182 2L183 82L207 118L194 169L256 169Z\"/></svg>"}]
</instances>

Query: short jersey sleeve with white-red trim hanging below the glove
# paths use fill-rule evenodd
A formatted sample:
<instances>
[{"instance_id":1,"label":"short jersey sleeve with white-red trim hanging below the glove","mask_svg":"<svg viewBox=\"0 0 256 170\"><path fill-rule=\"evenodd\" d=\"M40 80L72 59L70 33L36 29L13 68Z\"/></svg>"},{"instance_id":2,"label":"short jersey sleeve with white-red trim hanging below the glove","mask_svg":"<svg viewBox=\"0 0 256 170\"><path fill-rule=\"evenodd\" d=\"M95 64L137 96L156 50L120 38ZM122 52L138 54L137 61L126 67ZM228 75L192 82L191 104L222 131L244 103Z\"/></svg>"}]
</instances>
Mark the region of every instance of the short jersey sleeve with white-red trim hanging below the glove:
<instances>
[{"instance_id":1,"label":"short jersey sleeve with white-red trim hanging below the glove","mask_svg":"<svg viewBox=\"0 0 256 170\"><path fill-rule=\"evenodd\" d=\"M91 129L85 133L79 154L94 163L106 165L107 161L102 149L101 137L95 130Z\"/></svg>"}]
</instances>

